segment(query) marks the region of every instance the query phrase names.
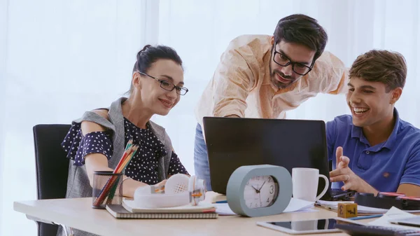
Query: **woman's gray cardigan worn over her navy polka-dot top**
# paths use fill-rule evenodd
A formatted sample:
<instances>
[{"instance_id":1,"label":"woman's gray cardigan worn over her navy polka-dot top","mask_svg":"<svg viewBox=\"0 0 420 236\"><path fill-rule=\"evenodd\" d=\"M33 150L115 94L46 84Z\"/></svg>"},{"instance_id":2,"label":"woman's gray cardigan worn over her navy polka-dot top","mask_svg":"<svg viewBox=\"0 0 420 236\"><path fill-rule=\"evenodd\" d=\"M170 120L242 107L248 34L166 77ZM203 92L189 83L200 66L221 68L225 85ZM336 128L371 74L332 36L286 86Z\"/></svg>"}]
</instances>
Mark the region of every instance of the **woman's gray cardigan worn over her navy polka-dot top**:
<instances>
[{"instance_id":1,"label":"woman's gray cardigan worn over her navy polka-dot top","mask_svg":"<svg viewBox=\"0 0 420 236\"><path fill-rule=\"evenodd\" d=\"M102 116L99 116L97 113L94 113L92 111L86 111L81 118L73 120L73 123L81 123L84 120L91 121L102 125L103 127L106 127L106 129L111 131L111 137L113 141L113 155L108 161L108 165L112 169L116 168L125 150L124 117L121 104L126 99L127 98L125 97L121 97L120 99L116 100L111 104L111 106L107 109L109 110L109 120ZM167 155L158 159L158 181L162 181L167 177L169 161L171 160L173 149L172 143L171 139L169 139L169 136L165 132L165 128L151 121L149 121L148 124L149 127L151 127L153 133L156 135L156 137L158 137L158 139L162 141L162 143L165 145L165 150L167 151ZM76 166L73 165L73 161L70 161L69 178L67 179L66 198L73 197L92 197L92 187L90 186L89 179L87 177L85 165ZM79 236L92 234L80 230L74 230L74 235Z\"/></svg>"}]
</instances>

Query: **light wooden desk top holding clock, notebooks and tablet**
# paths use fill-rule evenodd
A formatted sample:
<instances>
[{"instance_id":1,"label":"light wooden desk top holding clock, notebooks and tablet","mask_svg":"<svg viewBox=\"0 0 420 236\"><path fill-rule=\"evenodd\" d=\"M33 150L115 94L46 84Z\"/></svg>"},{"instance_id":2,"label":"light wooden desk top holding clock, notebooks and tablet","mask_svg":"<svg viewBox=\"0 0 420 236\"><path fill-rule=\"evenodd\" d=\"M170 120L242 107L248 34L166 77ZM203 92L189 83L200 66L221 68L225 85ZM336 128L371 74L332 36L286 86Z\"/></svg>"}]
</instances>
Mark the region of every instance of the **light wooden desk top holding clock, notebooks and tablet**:
<instances>
[{"instance_id":1,"label":"light wooden desk top holding clock, notebooks and tablet","mask_svg":"<svg viewBox=\"0 0 420 236\"><path fill-rule=\"evenodd\" d=\"M219 216L217 219L116 219L104 209L92 209L92 198L34 200L14 202L15 211L97 235L288 235L255 224L256 221L290 221L331 218L337 213L321 208L318 211L284 213L275 216L248 218ZM367 222L370 220L363 220ZM346 235L330 233L329 236Z\"/></svg>"}]
</instances>

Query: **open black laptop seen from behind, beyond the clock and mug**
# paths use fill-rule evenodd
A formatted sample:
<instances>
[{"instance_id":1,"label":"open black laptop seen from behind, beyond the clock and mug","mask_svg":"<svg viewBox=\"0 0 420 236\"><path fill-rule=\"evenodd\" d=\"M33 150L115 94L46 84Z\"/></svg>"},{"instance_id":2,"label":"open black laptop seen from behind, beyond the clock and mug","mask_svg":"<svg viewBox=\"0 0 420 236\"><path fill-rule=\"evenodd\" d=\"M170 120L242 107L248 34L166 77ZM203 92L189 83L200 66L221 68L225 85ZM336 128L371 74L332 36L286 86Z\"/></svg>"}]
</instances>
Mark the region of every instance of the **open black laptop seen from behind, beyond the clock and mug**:
<instances>
[{"instance_id":1,"label":"open black laptop seen from behind, beyond the clock and mug","mask_svg":"<svg viewBox=\"0 0 420 236\"><path fill-rule=\"evenodd\" d=\"M226 193L230 175L243 165L279 165L290 174L294 167L316 168L330 179L323 120L204 117L203 124L216 193ZM324 187L320 178L318 194ZM330 183L321 200L333 199Z\"/></svg>"}]
</instances>

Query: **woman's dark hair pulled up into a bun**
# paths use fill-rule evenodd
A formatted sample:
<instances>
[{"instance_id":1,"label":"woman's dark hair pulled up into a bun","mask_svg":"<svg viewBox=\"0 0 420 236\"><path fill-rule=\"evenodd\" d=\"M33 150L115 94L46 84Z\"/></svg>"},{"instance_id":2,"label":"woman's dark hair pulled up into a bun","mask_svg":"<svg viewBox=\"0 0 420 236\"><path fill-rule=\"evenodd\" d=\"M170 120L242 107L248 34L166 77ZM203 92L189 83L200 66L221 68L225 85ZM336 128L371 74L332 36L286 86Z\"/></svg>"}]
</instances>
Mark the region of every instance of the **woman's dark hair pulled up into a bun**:
<instances>
[{"instance_id":1,"label":"woman's dark hair pulled up into a bun","mask_svg":"<svg viewBox=\"0 0 420 236\"><path fill-rule=\"evenodd\" d=\"M134 64L133 73L140 71L147 73L148 69L151 68L154 62L157 62L160 59L167 59L176 62L182 67L182 60L179 57L178 53L174 48L168 46L151 46L146 45L143 49L137 53L137 62ZM133 85L130 85L130 91L127 93L130 94L133 90Z\"/></svg>"}]
</instances>

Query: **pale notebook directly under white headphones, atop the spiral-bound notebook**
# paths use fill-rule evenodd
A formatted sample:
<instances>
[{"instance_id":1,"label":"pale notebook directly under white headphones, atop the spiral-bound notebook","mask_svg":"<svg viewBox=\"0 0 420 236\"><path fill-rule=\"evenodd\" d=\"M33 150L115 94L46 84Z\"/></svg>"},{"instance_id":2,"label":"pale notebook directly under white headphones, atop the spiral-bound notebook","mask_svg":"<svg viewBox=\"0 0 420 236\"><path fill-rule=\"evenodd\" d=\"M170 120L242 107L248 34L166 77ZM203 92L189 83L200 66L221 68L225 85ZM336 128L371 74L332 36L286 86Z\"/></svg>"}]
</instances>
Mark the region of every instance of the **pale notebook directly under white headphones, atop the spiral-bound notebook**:
<instances>
[{"instance_id":1,"label":"pale notebook directly under white headphones, atop the spiral-bound notebook","mask_svg":"<svg viewBox=\"0 0 420 236\"><path fill-rule=\"evenodd\" d=\"M123 207L132 213L212 213L216 207L212 204L200 202L197 206L185 205L180 207L139 208L134 200L123 199Z\"/></svg>"}]
</instances>

